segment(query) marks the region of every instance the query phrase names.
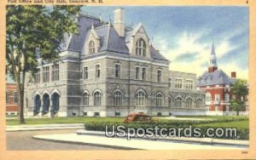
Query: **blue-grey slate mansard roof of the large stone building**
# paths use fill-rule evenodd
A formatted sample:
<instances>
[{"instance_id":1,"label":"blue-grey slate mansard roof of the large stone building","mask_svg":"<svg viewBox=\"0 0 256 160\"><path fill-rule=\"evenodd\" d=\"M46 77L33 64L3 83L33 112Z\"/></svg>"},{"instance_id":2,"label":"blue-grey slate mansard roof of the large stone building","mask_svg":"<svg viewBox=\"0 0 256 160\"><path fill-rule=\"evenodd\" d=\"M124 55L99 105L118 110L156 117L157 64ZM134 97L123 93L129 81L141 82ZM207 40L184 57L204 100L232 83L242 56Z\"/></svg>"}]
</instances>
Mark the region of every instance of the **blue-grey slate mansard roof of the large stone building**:
<instances>
[{"instance_id":1,"label":"blue-grey slate mansard roof of the large stone building","mask_svg":"<svg viewBox=\"0 0 256 160\"><path fill-rule=\"evenodd\" d=\"M125 37L119 37L113 26L101 22L101 20L91 17L89 15L82 15L79 17L79 35L72 35L72 37L65 37L67 43L67 50L84 53L84 42L88 36L91 26L95 26L96 36L100 37L100 49L99 51L112 51L119 52L120 54L129 54L127 45L130 43L130 38L134 31L137 30L139 24L133 30L125 30ZM63 45L61 45L63 46ZM65 50L65 49L63 49ZM163 55L159 53L152 45L150 45L150 54L153 59L167 60Z\"/></svg>"}]
</instances>

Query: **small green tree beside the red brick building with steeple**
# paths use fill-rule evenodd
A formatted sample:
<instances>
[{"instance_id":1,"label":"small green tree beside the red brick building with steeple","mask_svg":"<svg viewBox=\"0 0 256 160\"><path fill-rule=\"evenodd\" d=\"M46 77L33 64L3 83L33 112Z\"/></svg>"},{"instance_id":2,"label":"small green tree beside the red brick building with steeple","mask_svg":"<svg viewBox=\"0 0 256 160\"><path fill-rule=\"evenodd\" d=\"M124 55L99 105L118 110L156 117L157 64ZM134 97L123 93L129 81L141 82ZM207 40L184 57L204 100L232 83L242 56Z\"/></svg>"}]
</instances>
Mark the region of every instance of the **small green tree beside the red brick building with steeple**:
<instances>
[{"instance_id":1,"label":"small green tree beside the red brick building with steeple","mask_svg":"<svg viewBox=\"0 0 256 160\"><path fill-rule=\"evenodd\" d=\"M248 94L247 81L242 79L237 79L231 88L231 93L234 95L234 98L230 100L230 106L232 110L236 111L236 116L239 115L245 106L245 98Z\"/></svg>"}]
</instances>

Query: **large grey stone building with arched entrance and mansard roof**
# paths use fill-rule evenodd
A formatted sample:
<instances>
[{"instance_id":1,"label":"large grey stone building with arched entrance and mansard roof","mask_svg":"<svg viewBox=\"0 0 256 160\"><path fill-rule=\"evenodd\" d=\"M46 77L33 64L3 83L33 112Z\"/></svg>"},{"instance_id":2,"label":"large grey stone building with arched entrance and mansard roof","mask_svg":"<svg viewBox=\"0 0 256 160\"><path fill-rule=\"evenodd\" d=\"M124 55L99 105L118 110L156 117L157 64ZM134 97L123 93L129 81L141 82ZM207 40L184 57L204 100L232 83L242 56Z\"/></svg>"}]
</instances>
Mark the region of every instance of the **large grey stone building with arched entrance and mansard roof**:
<instances>
[{"instance_id":1,"label":"large grey stone building with arched entrance and mansard roof","mask_svg":"<svg viewBox=\"0 0 256 160\"><path fill-rule=\"evenodd\" d=\"M65 35L60 60L38 59L38 73L26 78L26 115L170 115L170 62L144 26L125 26L124 9L114 11L113 24L90 15L78 22L79 35Z\"/></svg>"}]
</instances>

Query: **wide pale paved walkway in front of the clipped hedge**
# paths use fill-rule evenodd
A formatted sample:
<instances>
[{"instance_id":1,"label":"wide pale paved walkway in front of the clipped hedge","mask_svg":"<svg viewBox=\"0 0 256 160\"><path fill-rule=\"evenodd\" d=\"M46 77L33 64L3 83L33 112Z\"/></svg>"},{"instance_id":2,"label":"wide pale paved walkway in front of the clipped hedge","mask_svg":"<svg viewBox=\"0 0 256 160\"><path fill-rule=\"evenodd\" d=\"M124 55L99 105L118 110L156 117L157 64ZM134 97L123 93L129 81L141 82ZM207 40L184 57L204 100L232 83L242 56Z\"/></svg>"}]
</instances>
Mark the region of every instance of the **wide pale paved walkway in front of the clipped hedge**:
<instances>
[{"instance_id":1,"label":"wide pale paved walkway in front of the clipped hedge","mask_svg":"<svg viewBox=\"0 0 256 160\"><path fill-rule=\"evenodd\" d=\"M34 139L50 140L58 142L67 142L75 144L91 144L97 146L112 146L141 150L222 150L222 149L241 149L234 146L212 146L201 144L184 144L171 141L158 140L126 140L123 138L108 138L105 136L87 135L87 134L50 134L50 135L34 135Z\"/></svg>"}]
</instances>

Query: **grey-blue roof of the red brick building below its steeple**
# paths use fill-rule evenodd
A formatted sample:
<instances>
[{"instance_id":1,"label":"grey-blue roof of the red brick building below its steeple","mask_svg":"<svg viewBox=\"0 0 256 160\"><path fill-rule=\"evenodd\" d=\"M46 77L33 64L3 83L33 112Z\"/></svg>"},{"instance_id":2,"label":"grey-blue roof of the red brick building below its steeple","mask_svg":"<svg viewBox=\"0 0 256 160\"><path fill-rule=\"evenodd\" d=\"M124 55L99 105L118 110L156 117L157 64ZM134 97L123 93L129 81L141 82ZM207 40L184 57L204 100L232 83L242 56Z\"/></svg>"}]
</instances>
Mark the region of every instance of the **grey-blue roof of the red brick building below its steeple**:
<instances>
[{"instance_id":1,"label":"grey-blue roof of the red brick building below its steeple","mask_svg":"<svg viewBox=\"0 0 256 160\"><path fill-rule=\"evenodd\" d=\"M213 72L206 71L201 77L197 79L197 86L210 86L210 85L230 85L236 79L230 78L224 71L215 70Z\"/></svg>"}]
</instances>

